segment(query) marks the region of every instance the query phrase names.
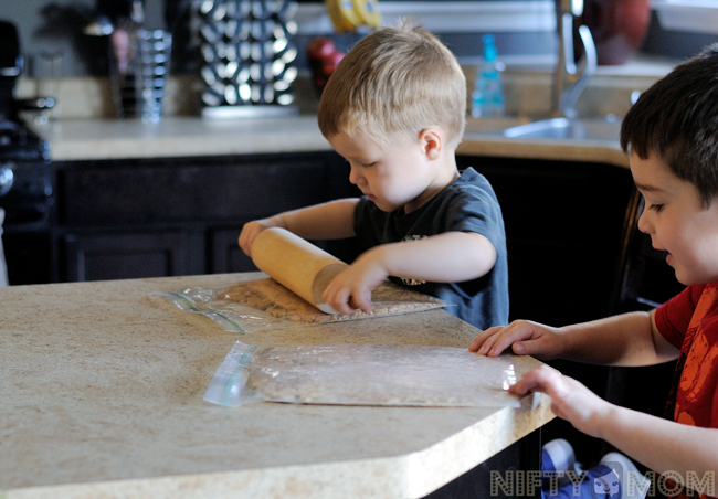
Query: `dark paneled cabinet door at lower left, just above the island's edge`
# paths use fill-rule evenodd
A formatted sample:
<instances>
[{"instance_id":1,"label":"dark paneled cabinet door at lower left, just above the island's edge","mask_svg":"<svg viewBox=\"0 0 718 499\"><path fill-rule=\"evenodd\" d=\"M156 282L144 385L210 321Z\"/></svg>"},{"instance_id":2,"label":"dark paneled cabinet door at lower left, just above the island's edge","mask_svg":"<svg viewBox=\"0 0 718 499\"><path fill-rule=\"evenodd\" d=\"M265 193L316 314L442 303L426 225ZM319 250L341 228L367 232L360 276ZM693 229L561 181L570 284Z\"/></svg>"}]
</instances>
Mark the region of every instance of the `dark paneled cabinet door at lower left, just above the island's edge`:
<instances>
[{"instance_id":1,"label":"dark paneled cabinet door at lower left, just above the island's edge","mask_svg":"<svg viewBox=\"0 0 718 499\"><path fill-rule=\"evenodd\" d=\"M191 237L180 232L66 235L67 280L130 279L201 273L190 257ZM199 257L198 257L199 256Z\"/></svg>"}]
</instances>

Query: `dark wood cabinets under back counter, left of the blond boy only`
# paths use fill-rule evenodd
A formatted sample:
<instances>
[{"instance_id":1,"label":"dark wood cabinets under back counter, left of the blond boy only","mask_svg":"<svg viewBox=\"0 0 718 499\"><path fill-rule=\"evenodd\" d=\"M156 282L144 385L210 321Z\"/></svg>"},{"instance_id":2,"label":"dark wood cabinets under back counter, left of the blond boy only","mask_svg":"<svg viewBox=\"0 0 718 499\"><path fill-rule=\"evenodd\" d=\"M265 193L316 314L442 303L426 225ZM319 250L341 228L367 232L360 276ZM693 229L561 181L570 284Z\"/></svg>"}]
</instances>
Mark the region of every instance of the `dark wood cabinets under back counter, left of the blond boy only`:
<instances>
[{"instance_id":1,"label":"dark wood cabinets under back counter, left of the blond boy only","mask_svg":"<svg viewBox=\"0 0 718 499\"><path fill-rule=\"evenodd\" d=\"M351 193L346 162L329 151L55 162L53 170L49 232L60 282L256 270L237 246L244 223Z\"/></svg>"}]
</instances>

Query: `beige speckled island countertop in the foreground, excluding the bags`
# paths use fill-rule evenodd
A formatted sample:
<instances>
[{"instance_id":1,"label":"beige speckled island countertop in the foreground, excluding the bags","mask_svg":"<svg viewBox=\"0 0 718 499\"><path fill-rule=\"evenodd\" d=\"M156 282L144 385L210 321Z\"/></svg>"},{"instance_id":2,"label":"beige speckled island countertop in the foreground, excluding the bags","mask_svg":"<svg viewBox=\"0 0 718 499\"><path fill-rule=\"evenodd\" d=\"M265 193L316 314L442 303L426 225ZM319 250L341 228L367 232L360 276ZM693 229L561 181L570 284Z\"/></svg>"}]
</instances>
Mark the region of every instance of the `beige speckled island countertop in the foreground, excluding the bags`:
<instances>
[{"instance_id":1,"label":"beige speckled island countertop in the foreground, excluding the bags","mask_svg":"<svg viewBox=\"0 0 718 499\"><path fill-rule=\"evenodd\" d=\"M553 416L202 401L237 339L466 347L444 310L239 337L151 291L256 274L0 288L0 497L421 497ZM539 365L515 357L517 375Z\"/></svg>"}]
</instances>

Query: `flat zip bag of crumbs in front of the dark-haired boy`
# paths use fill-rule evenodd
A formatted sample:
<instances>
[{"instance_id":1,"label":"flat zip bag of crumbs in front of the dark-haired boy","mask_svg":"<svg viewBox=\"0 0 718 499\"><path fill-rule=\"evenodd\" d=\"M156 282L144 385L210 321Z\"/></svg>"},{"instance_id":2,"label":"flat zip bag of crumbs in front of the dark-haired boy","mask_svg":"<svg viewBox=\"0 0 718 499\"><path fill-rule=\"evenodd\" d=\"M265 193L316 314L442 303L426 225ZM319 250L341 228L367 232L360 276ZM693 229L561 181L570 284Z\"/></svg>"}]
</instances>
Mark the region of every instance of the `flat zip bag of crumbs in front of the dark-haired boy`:
<instances>
[{"instance_id":1,"label":"flat zip bag of crumbs in front of the dark-haired boy","mask_svg":"<svg viewBox=\"0 0 718 499\"><path fill-rule=\"evenodd\" d=\"M204 400L393 406L518 406L510 357L451 347L313 344L258 348L237 341Z\"/></svg>"}]
</instances>

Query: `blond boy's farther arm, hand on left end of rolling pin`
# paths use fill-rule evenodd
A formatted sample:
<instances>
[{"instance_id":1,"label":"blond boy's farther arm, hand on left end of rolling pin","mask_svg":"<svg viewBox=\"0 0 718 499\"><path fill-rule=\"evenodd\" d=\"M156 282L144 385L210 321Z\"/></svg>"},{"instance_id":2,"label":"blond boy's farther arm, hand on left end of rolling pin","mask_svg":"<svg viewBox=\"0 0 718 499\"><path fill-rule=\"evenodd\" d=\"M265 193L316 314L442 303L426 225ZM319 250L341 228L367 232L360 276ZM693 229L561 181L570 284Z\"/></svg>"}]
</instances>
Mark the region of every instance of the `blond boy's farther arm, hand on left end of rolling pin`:
<instances>
[{"instance_id":1,"label":"blond boy's farther arm, hand on left end of rolling pin","mask_svg":"<svg viewBox=\"0 0 718 499\"><path fill-rule=\"evenodd\" d=\"M286 229L305 240L352 237L355 208L358 202L358 198L340 199L249 222L242 227L240 247L247 256L252 256L254 238L270 227Z\"/></svg>"}]
</instances>

